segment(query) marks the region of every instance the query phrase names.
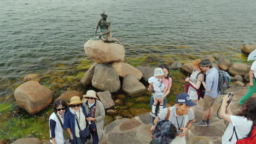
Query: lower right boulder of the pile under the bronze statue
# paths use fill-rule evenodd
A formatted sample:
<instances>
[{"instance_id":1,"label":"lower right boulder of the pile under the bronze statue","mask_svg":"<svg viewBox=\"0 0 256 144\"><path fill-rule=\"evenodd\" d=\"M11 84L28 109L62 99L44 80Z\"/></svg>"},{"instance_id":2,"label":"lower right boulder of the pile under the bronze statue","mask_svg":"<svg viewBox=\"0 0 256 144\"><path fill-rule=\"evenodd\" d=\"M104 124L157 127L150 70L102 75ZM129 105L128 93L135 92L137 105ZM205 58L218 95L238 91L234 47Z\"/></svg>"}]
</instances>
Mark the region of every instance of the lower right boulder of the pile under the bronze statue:
<instances>
[{"instance_id":1,"label":"lower right boulder of the pile under the bronze statue","mask_svg":"<svg viewBox=\"0 0 256 144\"><path fill-rule=\"evenodd\" d=\"M123 80L123 91L127 94L143 92L146 87L132 74L126 75Z\"/></svg>"}]
</instances>

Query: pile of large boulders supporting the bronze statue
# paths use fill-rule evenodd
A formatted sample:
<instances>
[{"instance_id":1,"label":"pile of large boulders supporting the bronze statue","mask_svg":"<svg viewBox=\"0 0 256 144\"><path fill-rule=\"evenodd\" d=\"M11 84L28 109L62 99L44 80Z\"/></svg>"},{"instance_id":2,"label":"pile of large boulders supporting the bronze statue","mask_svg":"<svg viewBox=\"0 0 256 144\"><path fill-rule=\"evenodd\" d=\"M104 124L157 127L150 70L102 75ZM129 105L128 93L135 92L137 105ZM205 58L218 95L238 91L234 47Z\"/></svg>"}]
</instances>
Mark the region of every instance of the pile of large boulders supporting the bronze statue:
<instances>
[{"instance_id":1,"label":"pile of large boulders supporting the bronze statue","mask_svg":"<svg viewBox=\"0 0 256 144\"><path fill-rule=\"evenodd\" d=\"M122 86L127 94L146 90L146 87L139 82L143 76L141 71L130 64L123 63L125 57L123 45L104 43L102 40L88 40L84 44L84 50L86 56L90 57L95 63L80 80L83 85L91 83L93 87L110 93L119 91ZM124 80L121 83L120 77L126 77L127 75L131 75L129 77L135 77L135 79ZM130 82L133 84L131 85Z\"/></svg>"}]
</instances>

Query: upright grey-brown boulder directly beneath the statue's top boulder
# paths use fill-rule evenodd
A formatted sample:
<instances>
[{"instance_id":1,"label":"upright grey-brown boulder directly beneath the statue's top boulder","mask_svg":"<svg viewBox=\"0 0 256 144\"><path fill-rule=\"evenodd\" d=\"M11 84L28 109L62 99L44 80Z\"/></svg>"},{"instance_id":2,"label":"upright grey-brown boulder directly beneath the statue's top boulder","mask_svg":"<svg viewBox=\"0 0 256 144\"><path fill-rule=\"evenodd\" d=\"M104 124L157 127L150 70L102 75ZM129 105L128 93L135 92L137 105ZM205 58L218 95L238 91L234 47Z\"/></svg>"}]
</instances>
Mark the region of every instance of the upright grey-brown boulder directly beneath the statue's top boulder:
<instances>
[{"instance_id":1,"label":"upright grey-brown boulder directly beneath the statue's top boulder","mask_svg":"<svg viewBox=\"0 0 256 144\"><path fill-rule=\"evenodd\" d=\"M92 86L101 91L117 92L120 89L118 74L109 64L97 64L92 77Z\"/></svg>"}]
</instances>

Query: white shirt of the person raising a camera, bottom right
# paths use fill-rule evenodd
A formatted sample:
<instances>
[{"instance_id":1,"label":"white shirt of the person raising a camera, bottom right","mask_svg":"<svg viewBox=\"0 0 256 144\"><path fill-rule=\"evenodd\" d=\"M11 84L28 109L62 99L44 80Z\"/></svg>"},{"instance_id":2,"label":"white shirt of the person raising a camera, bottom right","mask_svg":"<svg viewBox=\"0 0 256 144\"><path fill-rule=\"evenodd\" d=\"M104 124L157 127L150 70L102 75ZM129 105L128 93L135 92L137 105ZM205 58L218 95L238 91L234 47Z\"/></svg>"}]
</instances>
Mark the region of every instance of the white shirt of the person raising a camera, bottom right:
<instances>
[{"instance_id":1,"label":"white shirt of the person raising a camera, bottom right","mask_svg":"<svg viewBox=\"0 0 256 144\"><path fill-rule=\"evenodd\" d=\"M252 129L252 121L248 121L247 118L241 117L241 116L230 116L231 123L229 123L228 128L226 128L226 131L224 135L222 136L222 143L223 144L235 144L236 143L236 134L239 139L243 139L247 137L249 132ZM234 132L234 135L229 141L230 137L232 136L233 133L233 127L235 126L236 129L236 134Z\"/></svg>"}]
</instances>

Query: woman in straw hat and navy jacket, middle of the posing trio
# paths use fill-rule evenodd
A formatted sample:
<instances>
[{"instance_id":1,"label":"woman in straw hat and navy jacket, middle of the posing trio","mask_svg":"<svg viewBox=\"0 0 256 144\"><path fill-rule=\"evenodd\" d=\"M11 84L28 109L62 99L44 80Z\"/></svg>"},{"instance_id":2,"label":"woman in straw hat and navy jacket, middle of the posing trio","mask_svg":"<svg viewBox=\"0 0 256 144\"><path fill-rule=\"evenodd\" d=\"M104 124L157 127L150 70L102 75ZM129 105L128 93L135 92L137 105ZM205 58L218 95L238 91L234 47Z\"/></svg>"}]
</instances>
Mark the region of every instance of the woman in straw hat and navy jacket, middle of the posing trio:
<instances>
[{"instance_id":1,"label":"woman in straw hat and navy jacket, middle of the posing trio","mask_svg":"<svg viewBox=\"0 0 256 144\"><path fill-rule=\"evenodd\" d=\"M80 137L79 127L81 130L86 128L85 118L85 107L82 105L80 97L74 96L70 99L68 104L70 107L66 111L64 116L64 129L67 129L69 135L71 136L71 143L74 144L84 144L85 138Z\"/></svg>"}]
</instances>

